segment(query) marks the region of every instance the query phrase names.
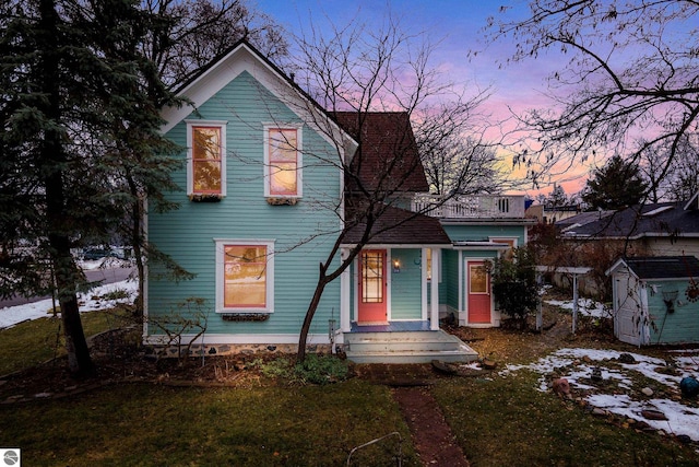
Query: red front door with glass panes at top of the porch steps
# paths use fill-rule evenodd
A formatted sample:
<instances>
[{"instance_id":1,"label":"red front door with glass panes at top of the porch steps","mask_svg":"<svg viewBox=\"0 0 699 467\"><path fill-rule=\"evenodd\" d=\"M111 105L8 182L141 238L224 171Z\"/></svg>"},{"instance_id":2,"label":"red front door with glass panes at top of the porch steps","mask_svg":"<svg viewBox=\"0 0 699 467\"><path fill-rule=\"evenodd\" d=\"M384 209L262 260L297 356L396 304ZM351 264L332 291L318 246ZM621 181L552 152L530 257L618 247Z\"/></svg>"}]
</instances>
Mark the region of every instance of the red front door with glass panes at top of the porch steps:
<instances>
[{"instance_id":1,"label":"red front door with glass panes at top of the porch steps","mask_svg":"<svg viewBox=\"0 0 699 467\"><path fill-rule=\"evenodd\" d=\"M357 322L387 323L386 249L365 249L359 255L359 308Z\"/></svg>"}]
</instances>

